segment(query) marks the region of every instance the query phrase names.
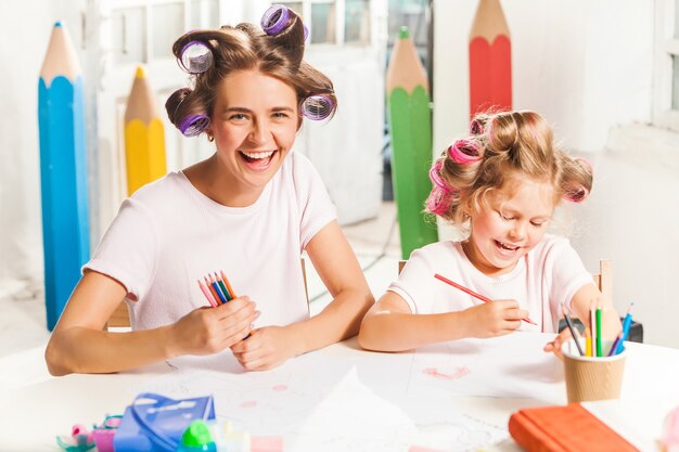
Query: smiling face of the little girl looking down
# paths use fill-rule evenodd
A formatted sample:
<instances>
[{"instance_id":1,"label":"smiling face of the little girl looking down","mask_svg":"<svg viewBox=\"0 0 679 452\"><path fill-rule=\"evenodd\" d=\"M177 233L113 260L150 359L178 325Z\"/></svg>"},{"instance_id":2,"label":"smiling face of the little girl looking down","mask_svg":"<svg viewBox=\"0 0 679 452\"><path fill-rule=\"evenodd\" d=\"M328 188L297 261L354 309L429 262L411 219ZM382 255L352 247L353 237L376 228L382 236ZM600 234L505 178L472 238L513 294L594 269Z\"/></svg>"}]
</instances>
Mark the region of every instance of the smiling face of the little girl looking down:
<instances>
[{"instance_id":1,"label":"smiling face of the little girl looking down","mask_svg":"<svg viewBox=\"0 0 679 452\"><path fill-rule=\"evenodd\" d=\"M518 180L490 192L471 218L464 243L470 261L484 274L512 271L545 235L554 211L554 190L547 182ZM513 190L512 190L513 189Z\"/></svg>"}]
</instances>

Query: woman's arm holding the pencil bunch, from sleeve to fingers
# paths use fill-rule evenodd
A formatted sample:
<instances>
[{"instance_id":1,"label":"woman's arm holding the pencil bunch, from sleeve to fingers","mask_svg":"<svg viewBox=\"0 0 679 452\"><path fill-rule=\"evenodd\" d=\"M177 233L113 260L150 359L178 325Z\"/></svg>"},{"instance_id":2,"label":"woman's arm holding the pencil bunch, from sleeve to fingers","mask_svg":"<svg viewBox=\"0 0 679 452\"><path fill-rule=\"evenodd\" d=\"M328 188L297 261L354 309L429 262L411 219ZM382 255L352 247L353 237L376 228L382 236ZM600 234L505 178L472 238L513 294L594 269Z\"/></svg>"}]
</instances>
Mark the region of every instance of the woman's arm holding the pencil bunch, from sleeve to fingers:
<instances>
[{"instance_id":1,"label":"woman's arm holding the pencil bunch, from sleeve to fingers","mask_svg":"<svg viewBox=\"0 0 679 452\"><path fill-rule=\"evenodd\" d=\"M196 309L171 325L108 333L106 321L126 294L116 280L85 273L47 346L52 375L111 373L180 354L220 351L245 337L257 317L254 304L242 297L218 308Z\"/></svg>"}]
</instances>

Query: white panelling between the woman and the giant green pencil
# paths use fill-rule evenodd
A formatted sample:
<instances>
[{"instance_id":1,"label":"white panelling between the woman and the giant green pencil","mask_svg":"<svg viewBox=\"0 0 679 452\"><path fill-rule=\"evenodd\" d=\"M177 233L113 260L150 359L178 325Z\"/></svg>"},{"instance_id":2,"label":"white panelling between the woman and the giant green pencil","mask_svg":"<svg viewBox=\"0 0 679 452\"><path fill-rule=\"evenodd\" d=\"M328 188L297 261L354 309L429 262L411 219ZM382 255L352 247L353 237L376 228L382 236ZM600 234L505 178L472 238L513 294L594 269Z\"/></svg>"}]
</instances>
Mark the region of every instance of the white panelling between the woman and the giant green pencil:
<instances>
[{"instance_id":1,"label":"white panelling between the woman and the giant green pencil","mask_svg":"<svg viewBox=\"0 0 679 452\"><path fill-rule=\"evenodd\" d=\"M313 162L342 224L375 217L382 202L384 66L374 49L311 49L307 60L333 81L338 105L328 122L305 120L295 151Z\"/></svg>"}]
</instances>

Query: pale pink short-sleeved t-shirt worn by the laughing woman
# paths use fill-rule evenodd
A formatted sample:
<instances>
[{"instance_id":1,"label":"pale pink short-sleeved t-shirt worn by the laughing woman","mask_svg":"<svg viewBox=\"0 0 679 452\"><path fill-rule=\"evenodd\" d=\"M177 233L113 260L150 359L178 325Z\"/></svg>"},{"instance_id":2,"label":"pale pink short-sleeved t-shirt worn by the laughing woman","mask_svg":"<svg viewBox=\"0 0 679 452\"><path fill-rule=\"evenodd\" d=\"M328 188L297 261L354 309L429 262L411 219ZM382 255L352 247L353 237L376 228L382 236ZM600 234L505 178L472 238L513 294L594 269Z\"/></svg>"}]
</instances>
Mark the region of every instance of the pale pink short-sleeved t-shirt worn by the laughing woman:
<instances>
[{"instance_id":1,"label":"pale pink short-sleeved t-shirt worn by the laughing woman","mask_svg":"<svg viewBox=\"0 0 679 452\"><path fill-rule=\"evenodd\" d=\"M243 208L218 204L171 172L123 203L82 270L126 287L134 330L209 306L197 281L220 271L238 296L257 304L255 326L286 325L309 317L300 255L335 219L319 173L295 152Z\"/></svg>"}]
</instances>

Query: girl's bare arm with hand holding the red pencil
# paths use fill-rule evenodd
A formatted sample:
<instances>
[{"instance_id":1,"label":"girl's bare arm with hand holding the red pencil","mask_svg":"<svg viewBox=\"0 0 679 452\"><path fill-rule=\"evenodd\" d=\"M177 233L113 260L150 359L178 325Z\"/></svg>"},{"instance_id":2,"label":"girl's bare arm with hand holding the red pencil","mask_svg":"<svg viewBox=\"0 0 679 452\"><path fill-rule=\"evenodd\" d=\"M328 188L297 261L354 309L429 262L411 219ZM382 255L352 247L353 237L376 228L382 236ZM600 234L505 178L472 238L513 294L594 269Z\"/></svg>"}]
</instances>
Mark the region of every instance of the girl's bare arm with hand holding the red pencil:
<instances>
[{"instance_id":1,"label":"girl's bare arm with hand holding the red pencil","mask_svg":"<svg viewBox=\"0 0 679 452\"><path fill-rule=\"evenodd\" d=\"M521 326L521 319L527 315L515 300L495 300L440 314L413 314L400 295L387 292L363 319L358 343L369 350L402 351L463 337L500 336Z\"/></svg>"}]
</instances>

